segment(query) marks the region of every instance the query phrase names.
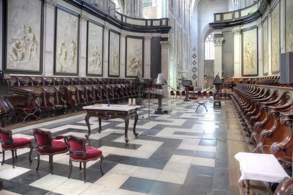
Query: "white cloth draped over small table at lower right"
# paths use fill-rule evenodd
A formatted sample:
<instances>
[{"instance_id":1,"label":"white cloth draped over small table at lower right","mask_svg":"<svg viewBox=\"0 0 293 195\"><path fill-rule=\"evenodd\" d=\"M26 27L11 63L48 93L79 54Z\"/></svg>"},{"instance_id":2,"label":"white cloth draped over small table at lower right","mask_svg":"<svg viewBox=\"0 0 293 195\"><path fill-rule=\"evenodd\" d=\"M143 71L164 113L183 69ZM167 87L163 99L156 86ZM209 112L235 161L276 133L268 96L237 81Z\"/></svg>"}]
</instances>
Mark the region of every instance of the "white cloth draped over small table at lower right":
<instances>
[{"instance_id":1,"label":"white cloth draped over small table at lower right","mask_svg":"<svg viewBox=\"0 0 293 195\"><path fill-rule=\"evenodd\" d=\"M234 157L242 173L238 183L245 179L280 183L290 177L272 154L239 152Z\"/></svg>"}]
</instances>

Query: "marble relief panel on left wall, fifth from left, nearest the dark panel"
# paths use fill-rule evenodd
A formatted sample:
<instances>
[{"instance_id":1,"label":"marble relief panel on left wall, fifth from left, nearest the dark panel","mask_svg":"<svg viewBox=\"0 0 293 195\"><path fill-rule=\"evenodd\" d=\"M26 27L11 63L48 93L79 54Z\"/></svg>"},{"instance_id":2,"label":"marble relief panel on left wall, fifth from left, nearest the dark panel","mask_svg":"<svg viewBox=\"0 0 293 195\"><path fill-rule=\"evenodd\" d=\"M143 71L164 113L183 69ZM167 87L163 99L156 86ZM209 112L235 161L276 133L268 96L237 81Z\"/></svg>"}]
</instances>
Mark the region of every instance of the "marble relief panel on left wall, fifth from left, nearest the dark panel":
<instances>
[{"instance_id":1,"label":"marble relief panel on left wall, fifth from left, nearest the dark panel","mask_svg":"<svg viewBox=\"0 0 293 195\"><path fill-rule=\"evenodd\" d=\"M126 77L143 75L143 39L127 37L126 41Z\"/></svg>"}]
</instances>

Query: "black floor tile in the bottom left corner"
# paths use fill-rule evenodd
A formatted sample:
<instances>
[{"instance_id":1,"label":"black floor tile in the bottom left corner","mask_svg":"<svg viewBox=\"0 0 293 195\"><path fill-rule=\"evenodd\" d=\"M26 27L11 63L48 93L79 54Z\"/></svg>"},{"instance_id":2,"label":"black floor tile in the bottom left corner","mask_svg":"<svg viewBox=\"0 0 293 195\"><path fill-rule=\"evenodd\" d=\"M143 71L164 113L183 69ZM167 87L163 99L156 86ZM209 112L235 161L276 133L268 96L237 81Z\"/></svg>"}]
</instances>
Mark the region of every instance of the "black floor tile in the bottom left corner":
<instances>
[{"instance_id":1,"label":"black floor tile in the bottom left corner","mask_svg":"<svg viewBox=\"0 0 293 195\"><path fill-rule=\"evenodd\" d=\"M5 179L2 179L2 181L3 181L3 190L18 193L21 195L45 195L49 192L47 190L25 185L15 181L10 181Z\"/></svg>"}]
</instances>

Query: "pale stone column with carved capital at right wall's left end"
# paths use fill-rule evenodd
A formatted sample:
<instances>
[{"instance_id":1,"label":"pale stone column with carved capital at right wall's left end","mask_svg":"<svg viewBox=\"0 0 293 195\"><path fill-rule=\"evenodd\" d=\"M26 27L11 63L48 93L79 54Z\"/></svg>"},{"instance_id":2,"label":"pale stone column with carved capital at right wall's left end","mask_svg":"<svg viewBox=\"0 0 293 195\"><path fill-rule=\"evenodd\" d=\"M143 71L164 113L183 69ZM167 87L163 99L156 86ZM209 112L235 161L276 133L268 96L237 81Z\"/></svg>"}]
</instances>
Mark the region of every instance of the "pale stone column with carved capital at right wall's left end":
<instances>
[{"instance_id":1,"label":"pale stone column with carved capital at right wall's left end","mask_svg":"<svg viewBox=\"0 0 293 195\"><path fill-rule=\"evenodd\" d=\"M224 37L213 38L213 42L215 44L214 77L216 77L216 75L219 73L219 77L222 78Z\"/></svg>"}]
</instances>

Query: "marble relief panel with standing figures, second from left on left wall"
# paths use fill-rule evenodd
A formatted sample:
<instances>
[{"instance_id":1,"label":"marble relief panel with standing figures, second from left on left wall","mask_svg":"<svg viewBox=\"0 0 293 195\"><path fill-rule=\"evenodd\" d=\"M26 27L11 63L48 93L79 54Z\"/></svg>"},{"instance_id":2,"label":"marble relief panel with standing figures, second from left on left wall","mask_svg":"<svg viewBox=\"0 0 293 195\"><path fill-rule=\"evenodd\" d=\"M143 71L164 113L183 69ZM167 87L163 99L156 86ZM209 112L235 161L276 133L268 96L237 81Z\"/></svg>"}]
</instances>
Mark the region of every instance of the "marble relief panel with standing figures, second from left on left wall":
<instances>
[{"instance_id":1,"label":"marble relief panel with standing figures, second from left on left wall","mask_svg":"<svg viewBox=\"0 0 293 195\"><path fill-rule=\"evenodd\" d=\"M55 72L77 74L79 17L57 8Z\"/></svg>"}]
</instances>

